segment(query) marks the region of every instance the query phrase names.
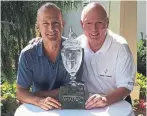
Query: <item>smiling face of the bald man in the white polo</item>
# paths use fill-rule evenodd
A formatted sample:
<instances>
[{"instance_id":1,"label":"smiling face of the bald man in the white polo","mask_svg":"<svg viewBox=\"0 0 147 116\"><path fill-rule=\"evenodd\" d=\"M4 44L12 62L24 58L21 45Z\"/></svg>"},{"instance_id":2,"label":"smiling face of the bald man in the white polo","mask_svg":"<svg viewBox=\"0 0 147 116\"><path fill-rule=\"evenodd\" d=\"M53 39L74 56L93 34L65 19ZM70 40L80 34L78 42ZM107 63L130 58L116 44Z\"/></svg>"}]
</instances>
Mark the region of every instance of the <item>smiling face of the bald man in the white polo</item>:
<instances>
[{"instance_id":1,"label":"smiling face of the bald man in the white polo","mask_svg":"<svg viewBox=\"0 0 147 116\"><path fill-rule=\"evenodd\" d=\"M81 25L90 44L102 45L108 27L108 19L98 8L93 8L85 14Z\"/></svg>"}]
</instances>

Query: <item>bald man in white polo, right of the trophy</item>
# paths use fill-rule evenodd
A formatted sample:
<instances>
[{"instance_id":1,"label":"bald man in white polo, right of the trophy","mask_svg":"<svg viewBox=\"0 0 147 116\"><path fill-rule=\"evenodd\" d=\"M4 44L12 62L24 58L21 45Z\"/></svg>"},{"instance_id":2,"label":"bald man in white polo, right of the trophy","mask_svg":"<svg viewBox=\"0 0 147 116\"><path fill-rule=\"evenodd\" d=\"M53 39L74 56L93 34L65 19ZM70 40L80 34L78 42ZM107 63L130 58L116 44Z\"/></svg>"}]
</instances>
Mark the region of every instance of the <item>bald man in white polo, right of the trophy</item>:
<instances>
[{"instance_id":1,"label":"bald man in white polo, right of the trophy","mask_svg":"<svg viewBox=\"0 0 147 116\"><path fill-rule=\"evenodd\" d=\"M105 107L128 96L135 80L135 64L126 40L108 29L106 10L97 2L88 4L81 14L84 34L83 81L93 95L86 108Z\"/></svg>"}]
</instances>

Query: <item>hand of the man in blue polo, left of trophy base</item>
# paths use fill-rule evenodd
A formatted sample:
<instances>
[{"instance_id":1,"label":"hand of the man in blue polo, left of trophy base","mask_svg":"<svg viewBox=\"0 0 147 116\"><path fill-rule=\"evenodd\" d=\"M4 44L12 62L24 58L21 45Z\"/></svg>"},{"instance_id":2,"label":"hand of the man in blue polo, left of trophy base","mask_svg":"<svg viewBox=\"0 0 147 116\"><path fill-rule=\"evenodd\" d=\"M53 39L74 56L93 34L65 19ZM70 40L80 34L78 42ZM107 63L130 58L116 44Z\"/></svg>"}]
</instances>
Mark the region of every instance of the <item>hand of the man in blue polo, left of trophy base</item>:
<instances>
[{"instance_id":1,"label":"hand of the man in blue polo, left of trophy base","mask_svg":"<svg viewBox=\"0 0 147 116\"><path fill-rule=\"evenodd\" d=\"M44 110L61 109L61 104L52 97L40 99L38 101L38 106Z\"/></svg>"}]
</instances>

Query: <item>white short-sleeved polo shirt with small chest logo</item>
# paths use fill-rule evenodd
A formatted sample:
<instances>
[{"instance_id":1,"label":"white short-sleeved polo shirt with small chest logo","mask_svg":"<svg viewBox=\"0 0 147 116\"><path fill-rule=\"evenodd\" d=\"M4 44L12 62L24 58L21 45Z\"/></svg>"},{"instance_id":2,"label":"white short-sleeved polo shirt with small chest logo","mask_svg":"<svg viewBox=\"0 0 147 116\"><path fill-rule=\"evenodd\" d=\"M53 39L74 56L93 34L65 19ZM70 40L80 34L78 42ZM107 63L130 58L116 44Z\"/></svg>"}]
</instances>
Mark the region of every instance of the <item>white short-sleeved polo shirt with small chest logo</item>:
<instances>
[{"instance_id":1,"label":"white short-sleeved polo shirt with small chest logo","mask_svg":"<svg viewBox=\"0 0 147 116\"><path fill-rule=\"evenodd\" d=\"M106 95L116 88L133 89L135 64L126 40L108 30L103 46L94 53L85 35L77 38L84 48L82 80L90 93Z\"/></svg>"}]
</instances>

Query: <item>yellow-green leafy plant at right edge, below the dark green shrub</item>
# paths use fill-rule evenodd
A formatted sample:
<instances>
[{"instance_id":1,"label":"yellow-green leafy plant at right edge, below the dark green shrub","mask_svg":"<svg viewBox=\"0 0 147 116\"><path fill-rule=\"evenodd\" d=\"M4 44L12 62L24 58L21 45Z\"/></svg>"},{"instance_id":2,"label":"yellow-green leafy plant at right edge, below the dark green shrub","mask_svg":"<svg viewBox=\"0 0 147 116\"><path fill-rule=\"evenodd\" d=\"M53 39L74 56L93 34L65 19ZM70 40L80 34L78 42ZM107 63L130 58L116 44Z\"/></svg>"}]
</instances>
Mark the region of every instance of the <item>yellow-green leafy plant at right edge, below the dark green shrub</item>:
<instances>
[{"instance_id":1,"label":"yellow-green leafy plant at right edge, below the dark green shrub","mask_svg":"<svg viewBox=\"0 0 147 116\"><path fill-rule=\"evenodd\" d=\"M141 73L137 73L137 83L140 85L140 97L141 98L146 97L146 88L147 88L146 81L147 81L147 77L145 77Z\"/></svg>"}]
</instances>

